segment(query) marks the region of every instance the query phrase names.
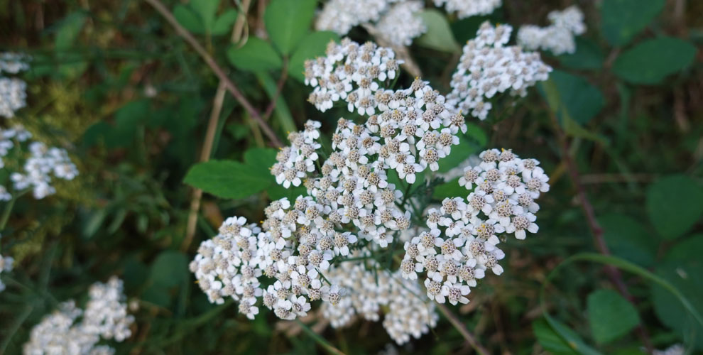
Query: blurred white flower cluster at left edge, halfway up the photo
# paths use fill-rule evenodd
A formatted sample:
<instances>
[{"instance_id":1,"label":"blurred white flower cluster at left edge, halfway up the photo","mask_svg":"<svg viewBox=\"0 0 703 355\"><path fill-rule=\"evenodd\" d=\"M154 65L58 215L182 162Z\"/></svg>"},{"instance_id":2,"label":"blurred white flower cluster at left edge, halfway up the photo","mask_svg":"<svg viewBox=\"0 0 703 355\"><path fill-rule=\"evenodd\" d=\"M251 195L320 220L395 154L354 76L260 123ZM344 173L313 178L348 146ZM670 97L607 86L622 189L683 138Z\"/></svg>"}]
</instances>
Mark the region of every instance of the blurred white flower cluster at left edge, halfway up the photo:
<instances>
[{"instance_id":1,"label":"blurred white flower cluster at left edge, halfway up the photo","mask_svg":"<svg viewBox=\"0 0 703 355\"><path fill-rule=\"evenodd\" d=\"M31 189L34 198L40 200L56 192L51 185L52 175L63 180L73 180L78 175L78 170L71 163L65 149L48 147L44 143L31 141L31 137L31 133L20 125L13 129L0 129L0 168L5 167L4 158L8 156L20 162L17 165L23 166L23 171L10 174L13 189ZM25 145L28 152L21 149ZM26 153L29 155L26 156ZM7 201L11 198L6 187L0 185L0 200Z\"/></svg>"}]
</instances>

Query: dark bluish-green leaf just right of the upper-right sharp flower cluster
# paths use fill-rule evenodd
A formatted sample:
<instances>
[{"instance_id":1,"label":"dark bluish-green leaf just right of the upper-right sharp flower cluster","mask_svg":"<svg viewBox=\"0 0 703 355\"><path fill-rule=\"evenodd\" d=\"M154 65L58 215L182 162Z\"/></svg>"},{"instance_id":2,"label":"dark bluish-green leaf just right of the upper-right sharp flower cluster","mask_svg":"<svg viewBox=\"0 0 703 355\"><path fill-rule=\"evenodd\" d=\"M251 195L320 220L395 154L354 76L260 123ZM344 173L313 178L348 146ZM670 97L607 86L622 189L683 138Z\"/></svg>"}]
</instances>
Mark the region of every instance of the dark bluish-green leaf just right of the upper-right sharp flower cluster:
<instances>
[{"instance_id":1,"label":"dark bluish-green leaf just right of the upper-right sharp flower cluster","mask_svg":"<svg viewBox=\"0 0 703 355\"><path fill-rule=\"evenodd\" d=\"M550 74L559 92L561 105L578 124L587 124L605 106L601 91L585 80L567 72L555 70ZM563 119L563 114L557 114Z\"/></svg>"}]
</instances>

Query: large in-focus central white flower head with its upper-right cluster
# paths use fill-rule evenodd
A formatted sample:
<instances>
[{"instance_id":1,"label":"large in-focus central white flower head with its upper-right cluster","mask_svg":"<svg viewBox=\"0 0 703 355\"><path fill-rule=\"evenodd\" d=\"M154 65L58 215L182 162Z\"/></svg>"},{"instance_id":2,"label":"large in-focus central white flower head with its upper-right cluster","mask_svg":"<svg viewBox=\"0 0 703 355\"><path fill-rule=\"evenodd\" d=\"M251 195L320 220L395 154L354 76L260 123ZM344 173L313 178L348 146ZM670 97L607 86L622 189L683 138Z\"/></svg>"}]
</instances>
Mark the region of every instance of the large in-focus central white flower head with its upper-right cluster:
<instances>
[{"instance_id":1,"label":"large in-focus central white flower head with its upper-right cluster","mask_svg":"<svg viewBox=\"0 0 703 355\"><path fill-rule=\"evenodd\" d=\"M510 31L484 23L467 44L476 53L465 50L459 75L478 72L472 84L481 95L525 94L550 71L538 54L504 48ZM499 236L537 232L535 200L548 178L537 160L511 150L484 151L466 168L459 184L467 195L437 207L413 202L410 187L425 184L418 174L439 170L467 124L456 103L419 77L393 89L400 62L391 48L344 38L305 63L308 102L322 112L346 107L349 118L337 120L332 151L322 149L318 121L278 151L271 174L305 195L274 200L261 224L230 217L202 242L190 270L210 302L231 297L250 319L263 305L293 320L321 300L333 327L356 315L378 320L383 309L383 326L403 344L435 326L433 301L467 303L486 272L503 272Z\"/></svg>"}]
</instances>

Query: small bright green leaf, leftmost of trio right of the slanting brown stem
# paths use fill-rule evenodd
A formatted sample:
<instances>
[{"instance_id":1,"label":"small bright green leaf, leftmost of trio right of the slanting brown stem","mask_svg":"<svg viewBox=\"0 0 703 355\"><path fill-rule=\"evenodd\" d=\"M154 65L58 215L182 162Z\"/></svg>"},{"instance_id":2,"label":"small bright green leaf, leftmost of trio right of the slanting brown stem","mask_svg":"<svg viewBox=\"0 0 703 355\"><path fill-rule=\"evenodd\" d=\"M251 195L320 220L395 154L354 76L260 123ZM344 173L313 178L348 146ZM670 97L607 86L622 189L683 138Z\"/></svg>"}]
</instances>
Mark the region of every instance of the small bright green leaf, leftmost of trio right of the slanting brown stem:
<instances>
[{"instance_id":1,"label":"small bright green leaf, leftmost of trio right of the slanting brown stem","mask_svg":"<svg viewBox=\"0 0 703 355\"><path fill-rule=\"evenodd\" d=\"M256 37L249 37L241 48L232 45L227 50L227 59L231 65L251 72L280 69L283 65L283 61L280 60L276 50L273 50L271 43Z\"/></svg>"}]
</instances>

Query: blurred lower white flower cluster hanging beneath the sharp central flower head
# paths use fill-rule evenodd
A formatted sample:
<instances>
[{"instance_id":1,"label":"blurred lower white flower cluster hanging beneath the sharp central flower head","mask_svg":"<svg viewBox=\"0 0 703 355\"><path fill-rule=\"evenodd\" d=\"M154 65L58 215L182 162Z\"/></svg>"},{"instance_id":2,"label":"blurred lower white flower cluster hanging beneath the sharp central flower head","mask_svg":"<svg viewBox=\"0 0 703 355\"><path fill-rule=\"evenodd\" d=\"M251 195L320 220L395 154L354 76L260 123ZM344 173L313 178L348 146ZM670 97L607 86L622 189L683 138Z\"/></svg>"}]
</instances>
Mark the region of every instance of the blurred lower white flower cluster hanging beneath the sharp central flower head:
<instances>
[{"instance_id":1,"label":"blurred lower white flower cluster hanging beneath the sharp central flower head","mask_svg":"<svg viewBox=\"0 0 703 355\"><path fill-rule=\"evenodd\" d=\"M356 315L378 322L383 310L386 332L396 343L405 344L410 336L420 338L437 324L435 305L425 297L420 284L400 278L398 272L383 271L375 261L368 269L364 263L339 263L330 269L327 278L349 294L337 305L322 305L322 315L332 327L345 327Z\"/></svg>"}]
</instances>

